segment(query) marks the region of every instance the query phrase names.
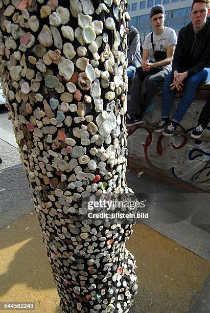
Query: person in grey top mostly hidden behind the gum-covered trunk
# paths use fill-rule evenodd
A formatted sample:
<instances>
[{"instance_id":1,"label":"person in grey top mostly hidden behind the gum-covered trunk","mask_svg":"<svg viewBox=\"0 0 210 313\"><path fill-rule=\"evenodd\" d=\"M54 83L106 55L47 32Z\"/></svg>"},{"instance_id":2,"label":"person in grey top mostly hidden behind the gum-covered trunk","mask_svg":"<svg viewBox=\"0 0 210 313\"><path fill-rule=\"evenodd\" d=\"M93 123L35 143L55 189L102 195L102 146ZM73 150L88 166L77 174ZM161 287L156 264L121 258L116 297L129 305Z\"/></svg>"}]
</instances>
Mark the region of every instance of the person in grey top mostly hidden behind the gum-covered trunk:
<instances>
[{"instance_id":1,"label":"person in grey top mostly hidden behind the gum-covered trunk","mask_svg":"<svg viewBox=\"0 0 210 313\"><path fill-rule=\"evenodd\" d=\"M127 33L127 59L128 59L128 68L127 76L129 79L132 79L135 76L135 71L138 66L141 66L142 57L141 57L141 38L137 29L133 26L126 28Z\"/></svg>"}]
</instances>

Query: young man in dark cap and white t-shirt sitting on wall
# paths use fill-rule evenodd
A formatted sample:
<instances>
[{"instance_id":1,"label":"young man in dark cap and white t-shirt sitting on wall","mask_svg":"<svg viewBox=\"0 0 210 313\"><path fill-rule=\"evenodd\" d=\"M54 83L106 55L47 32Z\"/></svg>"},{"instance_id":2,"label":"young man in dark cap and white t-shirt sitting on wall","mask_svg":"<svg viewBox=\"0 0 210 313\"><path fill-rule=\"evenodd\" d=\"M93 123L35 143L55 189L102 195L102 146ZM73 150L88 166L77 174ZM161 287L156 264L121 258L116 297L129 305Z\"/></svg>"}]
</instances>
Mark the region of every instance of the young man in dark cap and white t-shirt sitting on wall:
<instances>
[{"instance_id":1,"label":"young man in dark cap and white t-shirt sitting on wall","mask_svg":"<svg viewBox=\"0 0 210 313\"><path fill-rule=\"evenodd\" d=\"M164 26L166 19L165 9L162 5L152 7L150 22L153 32L145 37L143 45L142 67L136 69L131 87L131 98L128 105L127 126L143 123L142 109L149 104L155 94L159 81L171 71L174 49L177 42L176 32ZM143 103L141 90L143 81L147 78L146 101Z\"/></svg>"}]
</instances>

